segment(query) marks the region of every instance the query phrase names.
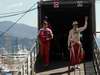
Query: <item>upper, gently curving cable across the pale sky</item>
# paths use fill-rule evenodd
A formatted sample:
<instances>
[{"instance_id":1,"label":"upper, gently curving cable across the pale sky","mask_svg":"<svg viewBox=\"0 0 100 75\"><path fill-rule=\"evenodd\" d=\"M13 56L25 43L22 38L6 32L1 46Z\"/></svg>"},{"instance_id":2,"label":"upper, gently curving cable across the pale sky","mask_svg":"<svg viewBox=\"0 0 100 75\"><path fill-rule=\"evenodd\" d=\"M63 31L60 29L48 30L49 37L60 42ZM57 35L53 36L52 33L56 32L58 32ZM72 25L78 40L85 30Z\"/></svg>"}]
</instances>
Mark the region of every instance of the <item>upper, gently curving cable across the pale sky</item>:
<instances>
[{"instance_id":1,"label":"upper, gently curving cable across the pale sky","mask_svg":"<svg viewBox=\"0 0 100 75\"><path fill-rule=\"evenodd\" d=\"M11 13L0 14L0 15L10 14L10 15L5 15L5 16L0 16L0 18L16 16L16 15L20 15L20 14L23 14L23 13L27 13L27 12L33 11L34 9L36 9L36 8L33 8L36 4L37 3L33 4L33 6L29 10L26 10L26 11L18 11L18 12L11 12Z\"/></svg>"}]
</instances>

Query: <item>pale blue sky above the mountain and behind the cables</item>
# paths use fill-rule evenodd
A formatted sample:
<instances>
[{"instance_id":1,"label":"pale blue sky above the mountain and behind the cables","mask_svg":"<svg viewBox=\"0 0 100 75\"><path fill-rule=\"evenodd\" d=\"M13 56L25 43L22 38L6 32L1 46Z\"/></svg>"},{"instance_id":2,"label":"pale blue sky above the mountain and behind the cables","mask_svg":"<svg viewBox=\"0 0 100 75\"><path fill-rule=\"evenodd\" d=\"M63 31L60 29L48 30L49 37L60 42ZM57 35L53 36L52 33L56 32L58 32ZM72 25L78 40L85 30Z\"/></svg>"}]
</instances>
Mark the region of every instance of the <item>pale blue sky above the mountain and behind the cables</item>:
<instances>
[{"instance_id":1,"label":"pale blue sky above the mountain and behind the cables","mask_svg":"<svg viewBox=\"0 0 100 75\"><path fill-rule=\"evenodd\" d=\"M28 10L34 3L39 0L1 0L0 1L0 14L25 11ZM96 2L96 25L97 30L100 30L100 1ZM22 15L22 14L21 14ZM21 15L0 18L0 21L13 21L15 22ZM29 26L37 27L37 10L27 13L18 23L24 23ZM2 15L0 15L2 16Z\"/></svg>"}]
</instances>

